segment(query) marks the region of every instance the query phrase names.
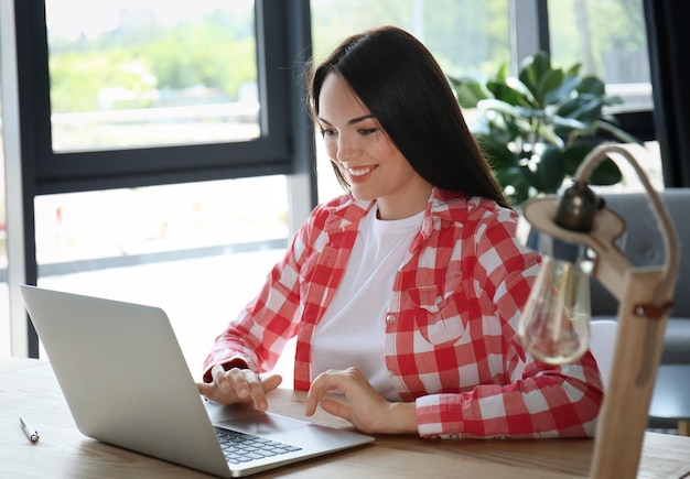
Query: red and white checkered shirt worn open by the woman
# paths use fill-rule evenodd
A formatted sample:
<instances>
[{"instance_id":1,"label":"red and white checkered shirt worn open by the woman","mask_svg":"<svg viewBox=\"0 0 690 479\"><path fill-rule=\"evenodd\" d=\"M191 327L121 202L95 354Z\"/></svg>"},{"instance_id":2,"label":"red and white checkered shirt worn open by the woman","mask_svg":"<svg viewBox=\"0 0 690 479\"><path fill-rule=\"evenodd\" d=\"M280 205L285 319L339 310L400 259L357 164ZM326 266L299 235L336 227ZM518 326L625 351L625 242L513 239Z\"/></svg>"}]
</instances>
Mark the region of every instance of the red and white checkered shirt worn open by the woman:
<instances>
[{"instance_id":1,"label":"red and white checkered shirt worn open by the woman","mask_svg":"<svg viewBox=\"0 0 690 479\"><path fill-rule=\"evenodd\" d=\"M294 388L310 387L311 339L375 203L349 195L314 209L260 294L205 362L271 370L298 336ZM493 200L434 189L398 270L385 317L386 368L414 401L424 437L594 434L603 401L594 358L550 366L526 353L520 309L539 269L516 240L517 215Z\"/></svg>"}]
</instances>

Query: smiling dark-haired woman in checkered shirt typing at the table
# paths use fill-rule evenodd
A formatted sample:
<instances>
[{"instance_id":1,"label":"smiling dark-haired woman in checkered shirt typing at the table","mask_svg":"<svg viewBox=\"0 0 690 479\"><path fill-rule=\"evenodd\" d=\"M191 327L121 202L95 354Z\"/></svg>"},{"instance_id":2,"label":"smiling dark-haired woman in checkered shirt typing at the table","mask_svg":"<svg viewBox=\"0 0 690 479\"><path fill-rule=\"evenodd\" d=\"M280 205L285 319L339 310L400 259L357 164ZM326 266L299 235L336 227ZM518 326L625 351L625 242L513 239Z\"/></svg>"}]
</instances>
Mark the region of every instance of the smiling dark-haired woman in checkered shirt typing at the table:
<instances>
[{"instance_id":1,"label":"smiling dark-haired woman in checkered shirt typing at the table","mask_svg":"<svg viewBox=\"0 0 690 479\"><path fill-rule=\"evenodd\" d=\"M268 406L297 335L294 388L365 433L586 436L593 357L535 361L517 337L539 257L429 51L397 28L343 42L309 102L347 194L317 206L217 338L200 392ZM259 375L262 374L262 375ZM342 392L347 401L324 398Z\"/></svg>"}]
</instances>

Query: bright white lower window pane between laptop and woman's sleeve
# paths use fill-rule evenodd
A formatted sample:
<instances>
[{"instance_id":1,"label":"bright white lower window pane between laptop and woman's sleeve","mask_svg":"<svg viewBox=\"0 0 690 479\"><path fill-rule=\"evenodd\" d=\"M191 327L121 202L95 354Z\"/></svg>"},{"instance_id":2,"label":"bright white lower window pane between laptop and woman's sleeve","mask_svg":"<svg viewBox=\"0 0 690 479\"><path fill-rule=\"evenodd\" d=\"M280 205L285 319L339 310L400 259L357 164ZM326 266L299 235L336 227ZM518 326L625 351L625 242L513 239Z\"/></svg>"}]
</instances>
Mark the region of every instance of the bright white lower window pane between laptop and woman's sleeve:
<instances>
[{"instance_id":1,"label":"bright white lower window pane between laptop and woman's sleeve","mask_svg":"<svg viewBox=\"0 0 690 479\"><path fill-rule=\"evenodd\" d=\"M284 253L287 189L278 175L39 196L39 285L162 307L198 377Z\"/></svg>"}]
</instances>

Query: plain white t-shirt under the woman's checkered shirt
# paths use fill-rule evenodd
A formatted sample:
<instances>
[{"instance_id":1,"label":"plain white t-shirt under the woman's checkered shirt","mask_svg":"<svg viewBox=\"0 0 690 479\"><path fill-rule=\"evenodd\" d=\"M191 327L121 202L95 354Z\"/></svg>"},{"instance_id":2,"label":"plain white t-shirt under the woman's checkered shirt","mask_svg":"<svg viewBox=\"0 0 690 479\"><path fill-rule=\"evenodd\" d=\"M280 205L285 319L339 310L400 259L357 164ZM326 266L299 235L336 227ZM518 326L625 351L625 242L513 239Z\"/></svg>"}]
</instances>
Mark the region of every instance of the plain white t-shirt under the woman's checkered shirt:
<instances>
[{"instance_id":1,"label":"plain white t-shirt under the woman's checkered shirt","mask_svg":"<svg viewBox=\"0 0 690 479\"><path fill-rule=\"evenodd\" d=\"M424 217L379 220L371 208L333 300L312 338L312 380L328 369L357 367L387 400L400 401L385 360L386 312L396 272Z\"/></svg>"}]
</instances>

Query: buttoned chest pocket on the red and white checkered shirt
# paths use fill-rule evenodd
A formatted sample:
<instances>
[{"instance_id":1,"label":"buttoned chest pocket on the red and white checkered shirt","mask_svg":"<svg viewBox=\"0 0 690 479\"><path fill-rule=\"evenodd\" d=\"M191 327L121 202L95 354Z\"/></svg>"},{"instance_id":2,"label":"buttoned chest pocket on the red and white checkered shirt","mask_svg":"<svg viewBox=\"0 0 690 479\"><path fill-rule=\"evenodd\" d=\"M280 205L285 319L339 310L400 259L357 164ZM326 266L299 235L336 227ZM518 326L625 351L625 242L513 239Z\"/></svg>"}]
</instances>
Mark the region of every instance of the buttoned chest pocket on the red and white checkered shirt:
<instances>
[{"instance_id":1,"label":"buttoned chest pocket on the red and white checkered shirt","mask_svg":"<svg viewBox=\"0 0 690 479\"><path fill-rule=\"evenodd\" d=\"M452 281L444 287L419 286L408 290L411 312L420 335L432 345L457 342L466 329L466 312L459 305L463 301L461 281Z\"/></svg>"}]
</instances>

